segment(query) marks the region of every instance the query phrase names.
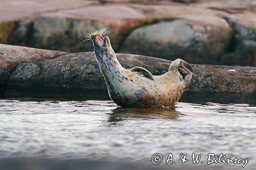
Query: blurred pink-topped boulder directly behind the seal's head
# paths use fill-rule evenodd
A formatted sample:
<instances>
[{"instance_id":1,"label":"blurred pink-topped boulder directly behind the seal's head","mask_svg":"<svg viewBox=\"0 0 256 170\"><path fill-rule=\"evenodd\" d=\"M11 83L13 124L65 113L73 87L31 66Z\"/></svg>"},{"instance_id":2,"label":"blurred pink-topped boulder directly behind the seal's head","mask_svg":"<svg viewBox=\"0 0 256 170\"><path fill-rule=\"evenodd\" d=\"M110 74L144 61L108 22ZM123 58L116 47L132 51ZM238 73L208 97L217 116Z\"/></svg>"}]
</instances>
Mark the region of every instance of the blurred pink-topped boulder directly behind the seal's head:
<instances>
[{"instance_id":1,"label":"blurred pink-topped boulder directly behind the seal's head","mask_svg":"<svg viewBox=\"0 0 256 170\"><path fill-rule=\"evenodd\" d=\"M133 27L138 27L145 16L120 5L90 6L42 14L33 23L29 46L67 52L92 51L92 43L82 43L84 35L109 27L112 46L117 49L120 41Z\"/></svg>"}]
</instances>

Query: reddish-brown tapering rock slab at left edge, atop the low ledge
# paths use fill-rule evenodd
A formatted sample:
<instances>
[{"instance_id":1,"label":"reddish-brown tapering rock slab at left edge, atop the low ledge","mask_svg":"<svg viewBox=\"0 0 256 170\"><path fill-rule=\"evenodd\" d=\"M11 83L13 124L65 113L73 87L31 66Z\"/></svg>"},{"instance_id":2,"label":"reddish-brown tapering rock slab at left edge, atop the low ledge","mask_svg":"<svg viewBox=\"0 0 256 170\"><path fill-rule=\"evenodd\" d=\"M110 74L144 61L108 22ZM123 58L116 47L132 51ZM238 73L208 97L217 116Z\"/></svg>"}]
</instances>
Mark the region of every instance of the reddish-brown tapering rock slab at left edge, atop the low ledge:
<instances>
[{"instance_id":1,"label":"reddish-brown tapering rock slab at left edge, atop the low ledge","mask_svg":"<svg viewBox=\"0 0 256 170\"><path fill-rule=\"evenodd\" d=\"M18 63L51 59L66 54L68 53L0 44L0 94L4 93L10 73Z\"/></svg>"}]
</instances>

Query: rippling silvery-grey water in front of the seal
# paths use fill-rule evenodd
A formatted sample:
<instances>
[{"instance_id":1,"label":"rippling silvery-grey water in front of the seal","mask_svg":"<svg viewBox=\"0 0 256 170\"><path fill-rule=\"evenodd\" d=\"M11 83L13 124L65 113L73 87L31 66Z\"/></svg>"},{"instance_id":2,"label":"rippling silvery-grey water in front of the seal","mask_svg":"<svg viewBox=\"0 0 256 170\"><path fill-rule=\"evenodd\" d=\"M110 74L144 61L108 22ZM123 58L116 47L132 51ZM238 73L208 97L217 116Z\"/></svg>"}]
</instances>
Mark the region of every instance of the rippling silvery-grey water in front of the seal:
<instances>
[{"instance_id":1,"label":"rippling silvery-grey water in front of the seal","mask_svg":"<svg viewBox=\"0 0 256 170\"><path fill-rule=\"evenodd\" d=\"M239 168L207 165L207 154L248 159L256 166L256 107L248 104L192 104L176 108L120 108L112 101L0 100L0 159L87 159L157 167ZM191 155L202 154L203 164ZM172 153L175 165L164 165ZM181 163L180 153L188 154ZM1 167L1 163L0 163Z\"/></svg>"}]
</instances>

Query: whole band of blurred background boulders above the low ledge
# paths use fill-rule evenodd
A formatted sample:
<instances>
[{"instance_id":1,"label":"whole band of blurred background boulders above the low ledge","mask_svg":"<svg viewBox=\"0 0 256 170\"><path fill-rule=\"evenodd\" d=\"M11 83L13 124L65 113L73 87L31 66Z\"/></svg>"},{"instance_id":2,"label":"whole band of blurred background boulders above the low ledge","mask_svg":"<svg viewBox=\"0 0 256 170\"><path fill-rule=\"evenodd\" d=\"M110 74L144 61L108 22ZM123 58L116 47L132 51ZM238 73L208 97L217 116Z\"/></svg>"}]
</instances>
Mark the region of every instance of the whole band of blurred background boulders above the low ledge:
<instances>
[{"instance_id":1,"label":"whole band of blurred background boulders above the low ledge","mask_svg":"<svg viewBox=\"0 0 256 170\"><path fill-rule=\"evenodd\" d=\"M91 30L109 27L118 53L190 63L256 66L253 0L0 0L0 43L92 51ZM13 12L15 11L15 12Z\"/></svg>"}]
</instances>

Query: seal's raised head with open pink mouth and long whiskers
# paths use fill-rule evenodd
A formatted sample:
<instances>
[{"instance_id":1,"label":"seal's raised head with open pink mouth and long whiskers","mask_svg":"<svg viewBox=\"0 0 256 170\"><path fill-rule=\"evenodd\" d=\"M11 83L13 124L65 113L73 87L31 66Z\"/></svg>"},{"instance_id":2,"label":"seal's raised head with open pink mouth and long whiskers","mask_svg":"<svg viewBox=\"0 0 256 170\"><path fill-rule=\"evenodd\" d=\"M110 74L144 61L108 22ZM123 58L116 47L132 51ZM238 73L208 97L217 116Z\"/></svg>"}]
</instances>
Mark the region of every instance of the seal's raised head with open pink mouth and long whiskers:
<instances>
[{"instance_id":1,"label":"seal's raised head with open pink mouth and long whiskers","mask_svg":"<svg viewBox=\"0 0 256 170\"><path fill-rule=\"evenodd\" d=\"M99 31L91 32L86 36L86 40L93 41L94 54L96 59L101 63L102 60L113 58L115 52L111 46L110 38L108 36L102 37L102 34L107 28Z\"/></svg>"}]
</instances>

